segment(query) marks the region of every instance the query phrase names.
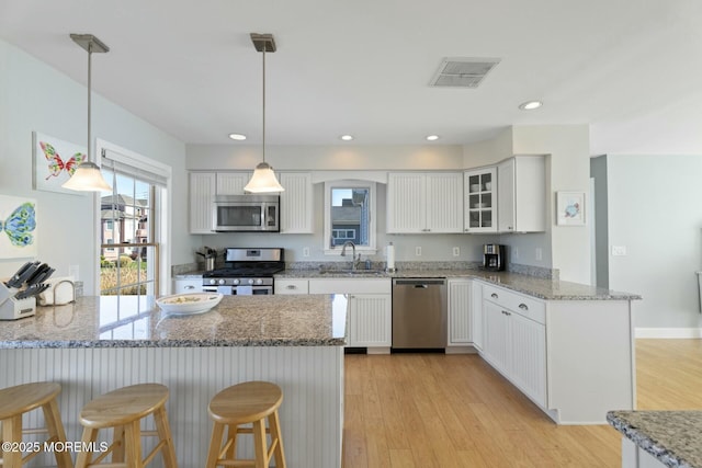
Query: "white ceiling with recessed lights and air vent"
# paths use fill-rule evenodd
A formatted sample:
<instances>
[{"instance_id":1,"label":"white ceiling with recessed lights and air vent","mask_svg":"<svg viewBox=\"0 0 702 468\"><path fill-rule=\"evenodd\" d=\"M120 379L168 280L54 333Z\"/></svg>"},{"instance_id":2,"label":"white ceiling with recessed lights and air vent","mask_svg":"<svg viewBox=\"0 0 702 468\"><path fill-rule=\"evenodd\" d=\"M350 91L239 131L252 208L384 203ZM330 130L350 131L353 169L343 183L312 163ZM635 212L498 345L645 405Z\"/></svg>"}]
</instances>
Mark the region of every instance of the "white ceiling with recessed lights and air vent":
<instances>
[{"instance_id":1,"label":"white ceiling with recessed lights and air vent","mask_svg":"<svg viewBox=\"0 0 702 468\"><path fill-rule=\"evenodd\" d=\"M189 144L466 144L509 125L590 124L591 152L702 153L698 0L0 0L0 37ZM498 57L477 89L444 57ZM519 111L539 99L537 111ZM347 144L343 144L347 145Z\"/></svg>"}]
</instances>

